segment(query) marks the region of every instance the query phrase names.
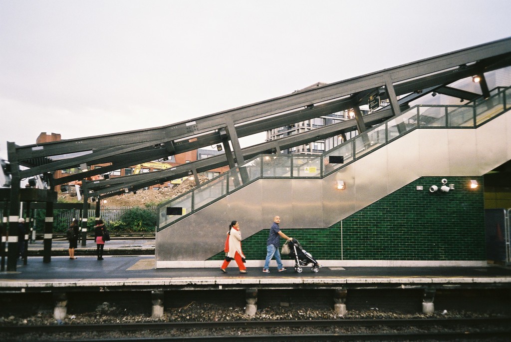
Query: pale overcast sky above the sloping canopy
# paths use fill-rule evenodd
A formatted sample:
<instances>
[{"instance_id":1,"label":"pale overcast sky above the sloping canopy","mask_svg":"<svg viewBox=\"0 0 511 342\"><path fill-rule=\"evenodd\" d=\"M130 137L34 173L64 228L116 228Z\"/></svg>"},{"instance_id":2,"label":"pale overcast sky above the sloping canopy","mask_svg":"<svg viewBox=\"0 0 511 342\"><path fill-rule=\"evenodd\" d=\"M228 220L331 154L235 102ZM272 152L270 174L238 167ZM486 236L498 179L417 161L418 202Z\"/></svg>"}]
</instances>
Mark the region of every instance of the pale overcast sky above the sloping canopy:
<instances>
[{"instance_id":1,"label":"pale overcast sky above the sloping canopy","mask_svg":"<svg viewBox=\"0 0 511 342\"><path fill-rule=\"evenodd\" d=\"M506 38L510 14L509 0L0 0L0 157L40 132L169 125Z\"/></svg>"}]
</instances>

